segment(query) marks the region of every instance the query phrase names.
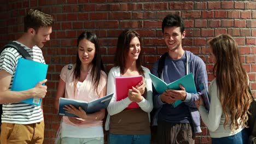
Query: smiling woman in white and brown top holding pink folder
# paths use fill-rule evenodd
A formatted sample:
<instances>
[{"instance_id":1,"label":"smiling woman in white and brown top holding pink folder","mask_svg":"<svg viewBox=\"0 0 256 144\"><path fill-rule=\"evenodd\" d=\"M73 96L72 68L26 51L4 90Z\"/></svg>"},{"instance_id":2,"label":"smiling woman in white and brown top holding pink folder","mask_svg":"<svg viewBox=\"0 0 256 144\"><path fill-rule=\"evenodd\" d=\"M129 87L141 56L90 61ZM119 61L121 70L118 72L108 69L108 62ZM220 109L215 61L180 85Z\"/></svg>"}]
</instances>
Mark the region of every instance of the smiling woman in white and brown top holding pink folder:
<instances>
[{"instance_id":1,"label":"smiling woman in white and brown top holding pink folder","mask_svg":"<svg viewBox=\"0 0 256 144\"><path fill-rule=\"evenodd\" d=\"M149 112L153 109L152 82L149 69L142 67L141 38L135 31L123 31L118 37L115 67L110 69L107 94L114 93L107 108L105 128L109 130L108 143L150 143ZM143 76L143 81L127 91L128 97L117 101L116 76ZM136 109L126 109L129 104Z\"/></svg>"}]
</instances>

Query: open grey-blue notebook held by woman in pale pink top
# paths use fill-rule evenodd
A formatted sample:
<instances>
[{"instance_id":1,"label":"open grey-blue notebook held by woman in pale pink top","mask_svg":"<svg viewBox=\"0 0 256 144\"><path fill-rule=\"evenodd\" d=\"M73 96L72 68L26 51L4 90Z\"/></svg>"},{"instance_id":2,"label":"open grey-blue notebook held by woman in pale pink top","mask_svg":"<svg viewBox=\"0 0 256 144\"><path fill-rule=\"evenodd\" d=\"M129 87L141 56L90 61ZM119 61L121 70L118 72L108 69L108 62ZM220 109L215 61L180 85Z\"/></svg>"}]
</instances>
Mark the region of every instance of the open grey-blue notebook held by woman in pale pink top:
<instances>
[{"instance_id":1,"label":"open grey-blue notebook held by woman in pale pink top","mask_svg":"<svg viewBox=\"0 0 256 144\"><path fill-rule=\"evenodd\" d=\"M75 116L72 113L68 113L66 112L63 107L65 105L73 105L74 107L76 107L78 109L79 106L82 107L82 109L86 112L86 113L94 113L97 111L100 111L101 109L106 109L108 107L108 104L110 102L110 100L113 97L113 94L108 94L105 97L102 97L100 99L96 99L96 100L92 100L90 102L87 101L82 101L82 100L75 100L75 99L67 99L67 98L60 98L59 100L59 115L62 116L68 116L68 117L78 117Z\"/></svg>"}]
</instances>

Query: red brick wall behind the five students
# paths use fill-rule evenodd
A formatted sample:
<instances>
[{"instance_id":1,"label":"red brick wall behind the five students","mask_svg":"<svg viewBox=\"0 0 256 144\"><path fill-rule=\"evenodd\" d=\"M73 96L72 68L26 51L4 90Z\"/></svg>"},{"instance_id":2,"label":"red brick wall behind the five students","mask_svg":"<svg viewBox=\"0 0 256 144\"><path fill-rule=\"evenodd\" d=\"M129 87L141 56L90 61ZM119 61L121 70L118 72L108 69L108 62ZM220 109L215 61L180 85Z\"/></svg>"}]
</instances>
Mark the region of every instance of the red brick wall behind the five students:
<instances>
[{"instance_id":1,"label":"red brick wall behind the five students","mask_svg":"<svg viewBox=\"0 0 256 144\"><path fill-rule=\"evenodd\" d=\"M242 61L251 80L255 97L256 74L256 1L149 1L149 0L9 0L0 1L0 46L17 39L23 32L23 17L28 8L39 8L54 15L56 22L51 40L43 47L46 63L48 93L43 100L45 141L54 143L60 117L53 103L59 74L63 65L74 62L76 39L82 31L93 31L100 38L103 61L109 70L117 37L123 29L135 29L142 36L143 65L149 69L166 51L162 40L161 21L170 13L184 18L185 50L200 56L206 63L211 81L213 64L209 59L207 40L228 33L241 47ZM196 136L196 143L211 141L207 128Z\"/></svg>"}]
</instances>

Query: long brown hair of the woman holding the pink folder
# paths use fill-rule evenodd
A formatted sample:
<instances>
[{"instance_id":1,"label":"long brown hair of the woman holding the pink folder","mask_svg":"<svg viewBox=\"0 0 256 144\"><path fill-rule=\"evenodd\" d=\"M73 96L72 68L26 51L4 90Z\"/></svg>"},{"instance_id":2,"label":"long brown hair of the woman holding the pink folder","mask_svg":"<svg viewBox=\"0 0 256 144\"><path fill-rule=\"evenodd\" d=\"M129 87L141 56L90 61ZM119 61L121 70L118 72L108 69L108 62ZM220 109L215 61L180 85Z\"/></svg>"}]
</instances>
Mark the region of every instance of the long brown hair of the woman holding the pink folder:
<instances>
[{"instance_id":1,"label":"long brown hair of the woman holding the pink folder","mask_svg":"<svg viewBox=\"0 0 256 144\"><path fill-rule=\"evenodd\" d=\"M115 67L120 67L121 74L124 74L125 64L127 61L127 53L129 52L130 42L133 38L137 37L139 43L141 43L141 37L136 31L125 30L118 37L117 52L115 53ZM139 74L144 76L144 70L142 69L142 49L136 60L136 68Z\"/></svg>"}]
</instances>

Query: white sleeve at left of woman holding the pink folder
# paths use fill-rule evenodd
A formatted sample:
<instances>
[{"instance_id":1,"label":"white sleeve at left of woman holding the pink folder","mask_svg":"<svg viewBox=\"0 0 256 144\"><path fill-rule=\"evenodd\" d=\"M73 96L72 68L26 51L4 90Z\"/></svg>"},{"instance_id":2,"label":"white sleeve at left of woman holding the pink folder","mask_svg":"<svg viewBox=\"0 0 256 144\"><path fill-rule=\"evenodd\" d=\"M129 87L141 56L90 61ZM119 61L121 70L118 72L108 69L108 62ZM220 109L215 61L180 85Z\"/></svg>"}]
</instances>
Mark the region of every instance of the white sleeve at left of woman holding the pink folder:
<instances>
[{"instance_id":1,"label":"white sleeve at left of woman holding the pink folder","mask_svg":"<svg viewBox=\"0 0 256 144\"><path fill-rule=\"evenodd\" d=\"M127 97L120 101L117 101L117 95L115 91L115 68L110 69L108 73L108 83L107 83L107 94L114 93L108 107L108 113L110 116L115 115L123 111L132 101Z\"/></svg>"}]
</instances>

